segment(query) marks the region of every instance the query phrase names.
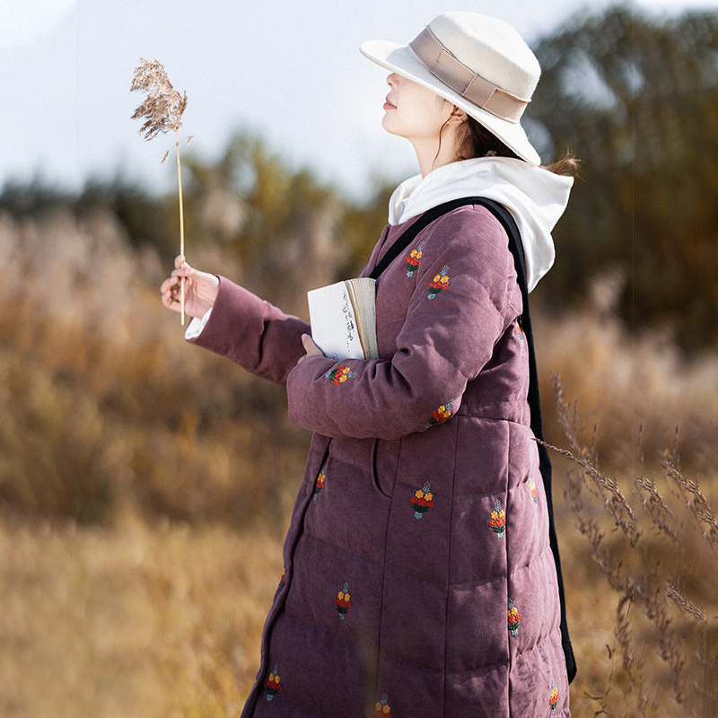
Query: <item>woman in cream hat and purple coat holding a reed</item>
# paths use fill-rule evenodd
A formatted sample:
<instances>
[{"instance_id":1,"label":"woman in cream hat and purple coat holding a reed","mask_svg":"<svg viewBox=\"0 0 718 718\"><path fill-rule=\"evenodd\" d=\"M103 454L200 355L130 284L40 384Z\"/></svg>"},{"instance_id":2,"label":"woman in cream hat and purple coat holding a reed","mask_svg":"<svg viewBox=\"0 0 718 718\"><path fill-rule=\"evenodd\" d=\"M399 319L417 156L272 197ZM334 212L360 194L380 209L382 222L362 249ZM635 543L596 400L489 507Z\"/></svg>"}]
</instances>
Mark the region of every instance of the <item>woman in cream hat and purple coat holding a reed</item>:
<instances>
[{"instance_id":1,"label":"woman in cream hat and purple coat holding a reed","mask_svg":"<svg viewBox=\"0 0 718 718\"><path fill-rule=\"evenodd\" d=\"M426 210L481 196L510 210L533 288L572 180L538 167L518 121L538 82L530 49L503 22L447 13L409 47L362 51L391 70L382 123L420 168L364 274ZM418 232L378 281L376 360L336 363L301 320L176 267L162 301L179 310L184 277L188 339L285 383L290 417L315 432L242 715L569 715L503 224L469 204Z\"/></svg>"}]
</instances>

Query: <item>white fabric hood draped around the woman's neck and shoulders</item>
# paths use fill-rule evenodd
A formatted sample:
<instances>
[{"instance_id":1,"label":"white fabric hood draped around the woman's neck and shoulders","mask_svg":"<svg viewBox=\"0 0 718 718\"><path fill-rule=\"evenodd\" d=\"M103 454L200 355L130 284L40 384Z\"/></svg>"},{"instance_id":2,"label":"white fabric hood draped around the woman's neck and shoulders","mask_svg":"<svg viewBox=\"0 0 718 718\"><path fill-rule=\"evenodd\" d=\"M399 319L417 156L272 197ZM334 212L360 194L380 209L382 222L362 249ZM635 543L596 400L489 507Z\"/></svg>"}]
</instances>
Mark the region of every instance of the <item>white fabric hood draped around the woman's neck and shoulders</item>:
<instances>
[{"instance_id":1,"label":"white fabric hood draped around the woman's neck and shoulders","mask_svg":"<svg viewBox=\"0 0 718 718\"><path fill-rule=\"evenodd\" d=\"M509 157L477 157L451 162L422 179L402 182L389 201L389 223L399 224L442 202L486 197L505 206L521 233L529 291L556 257L551 231L564 214L574 179Z\"/></svg>"}]
</instances>

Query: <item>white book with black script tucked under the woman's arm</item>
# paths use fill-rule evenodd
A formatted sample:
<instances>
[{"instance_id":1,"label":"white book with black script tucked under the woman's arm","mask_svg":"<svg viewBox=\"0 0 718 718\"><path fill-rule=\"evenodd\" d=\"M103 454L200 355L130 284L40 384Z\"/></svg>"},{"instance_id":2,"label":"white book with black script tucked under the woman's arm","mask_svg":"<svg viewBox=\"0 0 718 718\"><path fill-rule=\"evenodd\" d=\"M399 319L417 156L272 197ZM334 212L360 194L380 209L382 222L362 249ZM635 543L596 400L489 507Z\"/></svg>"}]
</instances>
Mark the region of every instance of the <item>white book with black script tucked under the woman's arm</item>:
<instances>
[{"instance_id":1,"label":"white book with black script tucked under the woman's arm","mask_svg":"<svg viewBox=\"0 0 718 718\"><path fill-rule=\"evenodd\" d=\"M346 279L307 293L311 337L325 356L378 359L376 344L376 280Z\"/></svg>"}]
</instances>

